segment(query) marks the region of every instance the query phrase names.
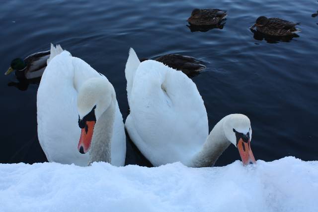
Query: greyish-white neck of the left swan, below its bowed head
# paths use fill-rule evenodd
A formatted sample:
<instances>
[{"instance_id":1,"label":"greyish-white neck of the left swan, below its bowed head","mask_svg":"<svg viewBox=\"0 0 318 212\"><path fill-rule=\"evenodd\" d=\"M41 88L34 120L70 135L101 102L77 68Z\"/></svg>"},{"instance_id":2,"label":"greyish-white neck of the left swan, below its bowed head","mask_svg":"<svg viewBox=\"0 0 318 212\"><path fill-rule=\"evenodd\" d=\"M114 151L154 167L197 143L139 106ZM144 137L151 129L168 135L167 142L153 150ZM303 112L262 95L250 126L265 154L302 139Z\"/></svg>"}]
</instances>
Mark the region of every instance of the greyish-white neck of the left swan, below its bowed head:
<instances>
[{"instance_id":1,"label":"greyish-white neck of the left swan, below its bowed head","mask_svg":"<svg viewBox=\"0 0 318 212\"><path fill-rule=\"evenodd\" d=\"M116 98L112 98L110 106L96 120L89 150L88 165L98 161L111 163L111 138L116 109Z\"/></svg>"}]
</instances>

